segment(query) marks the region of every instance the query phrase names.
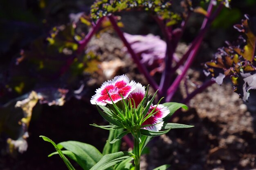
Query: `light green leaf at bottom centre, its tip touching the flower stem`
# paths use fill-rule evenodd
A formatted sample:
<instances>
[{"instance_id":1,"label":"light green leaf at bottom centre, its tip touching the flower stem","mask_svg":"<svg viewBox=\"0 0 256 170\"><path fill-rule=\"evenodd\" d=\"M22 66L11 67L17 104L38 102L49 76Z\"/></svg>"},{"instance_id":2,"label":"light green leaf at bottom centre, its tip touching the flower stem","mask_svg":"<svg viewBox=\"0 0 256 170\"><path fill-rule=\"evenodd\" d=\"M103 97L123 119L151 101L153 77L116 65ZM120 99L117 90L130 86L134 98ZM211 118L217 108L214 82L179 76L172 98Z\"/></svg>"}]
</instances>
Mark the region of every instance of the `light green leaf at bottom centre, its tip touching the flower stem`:
<instances>
[{"instance_id":1,"label":"light green leaf at bottom centre, its tip touching the flower stem","mask_svg":"<svg viewBox=\"0 0 256 170\"><path fill-rule=\"evenodd\" d=\"M133 154L126 151L104 155L101 160L90 170L106 170L107 168L110 168L111 166L114 166L117 163L130 158L131 156L133 156Z\"/></svg>"}]
</instances>

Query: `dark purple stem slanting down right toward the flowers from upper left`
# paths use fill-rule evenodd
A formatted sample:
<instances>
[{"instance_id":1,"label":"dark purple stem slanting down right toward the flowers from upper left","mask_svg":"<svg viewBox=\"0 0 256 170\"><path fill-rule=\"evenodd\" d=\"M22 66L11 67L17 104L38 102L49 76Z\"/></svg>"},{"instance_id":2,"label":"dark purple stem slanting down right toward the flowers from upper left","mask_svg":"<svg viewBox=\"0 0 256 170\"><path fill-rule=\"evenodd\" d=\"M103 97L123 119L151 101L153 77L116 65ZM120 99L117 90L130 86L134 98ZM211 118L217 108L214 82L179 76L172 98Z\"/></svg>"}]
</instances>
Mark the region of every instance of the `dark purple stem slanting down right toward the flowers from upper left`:
<instances>
[{"instance_id":1,"label":"dark purple stem slanting down right toward the flowers from upper left","mask_svg":"<svg viewBox=\"0 0 256 170\"><path fill-rule=\"evenodd\" d=\"M137 56L137 54L133 51L131 45L129 44L129 42L126 40L126 38L124 37L124 33L121 31L121 29L119 28L119 26L117 25L115 18L113 17L113 15L108 16L113 28L115 29L115 31L117 31L117 34L119 35L119 38L121 38L121 40L124 42L124 45L126 46L128 52L130 53L130 55L132 56L132 59L135 61L135 63L138 66L139 71L144 74L144 76L146 77L146 79L148 80L148 83L154 88L155 91L158 90L158 85L155 82L155 80L149 75L146 67L140 62L139 57Z\"/></svg>"}]
</instances>

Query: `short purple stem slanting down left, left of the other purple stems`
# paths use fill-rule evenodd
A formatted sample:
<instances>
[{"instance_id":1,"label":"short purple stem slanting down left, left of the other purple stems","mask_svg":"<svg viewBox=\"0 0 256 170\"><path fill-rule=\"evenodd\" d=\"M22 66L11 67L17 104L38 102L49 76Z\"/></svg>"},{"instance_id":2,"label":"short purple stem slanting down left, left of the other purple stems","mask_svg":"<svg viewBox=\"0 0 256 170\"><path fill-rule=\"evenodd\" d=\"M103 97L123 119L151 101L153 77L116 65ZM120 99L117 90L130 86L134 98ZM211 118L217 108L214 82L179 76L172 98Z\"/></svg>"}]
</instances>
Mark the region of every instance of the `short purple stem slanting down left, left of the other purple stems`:
<instances>
[{"instance_id":1,"label":"short purple stem slanting down left, left of the other purple stems","mask_svg":"<svg viewBox=\"0 0 256 170\"><path fill-rule=\"evenodd\" d=\"M88 42L91 40L92 36L94 35L94 33L96 33L96 31L99 29L99 27L101 26L101 22L103 21L104 17L100 18L99 20L97 20L96 24L92 27L92 29L89 31L89 33L85 36L85 38L81 41L79 41L79 47L76 51L76 53L81 53L84 49L85 46L88 44Z\"/></svg>"}]
</instances>

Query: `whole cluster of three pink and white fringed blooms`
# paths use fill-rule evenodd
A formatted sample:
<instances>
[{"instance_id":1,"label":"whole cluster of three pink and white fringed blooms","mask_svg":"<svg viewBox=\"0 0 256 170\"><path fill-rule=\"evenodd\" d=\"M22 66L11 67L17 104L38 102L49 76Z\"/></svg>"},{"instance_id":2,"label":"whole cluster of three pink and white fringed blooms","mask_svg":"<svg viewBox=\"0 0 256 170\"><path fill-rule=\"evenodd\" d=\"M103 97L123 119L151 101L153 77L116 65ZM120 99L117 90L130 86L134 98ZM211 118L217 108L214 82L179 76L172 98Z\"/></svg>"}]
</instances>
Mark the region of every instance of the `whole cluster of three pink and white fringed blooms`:
<instances>
[{"instance_id":1,"label":"whole cluster of three pink and white fringed blooms","mask_svg":"<svg viewBox=\"0 0 256 170\"><path fill-rule=\"evenodd\" d=\"M140 83L135 83L134 81L130 82L126 75L116 76L113 80L104 82L101 88L96 90L96 94L91 98L91 104L106 106L116 104L120 101L128 103L127 106L130 107L131 110L136 110L142 105L142 101L147 99L145 93L145 87ZM166 117L170 111L161 104L150 104L149 107L144 107L141 112L144 112L145 109L148 110L146 110L146 115L142 117L144 119L141 122L142 124L140 124L140 128L158 132L163 126L163 118ZM124 113L125 111L126 110L124 110ZM123 116L126 116L126 114Z\"/></svg>"}]
</instances>

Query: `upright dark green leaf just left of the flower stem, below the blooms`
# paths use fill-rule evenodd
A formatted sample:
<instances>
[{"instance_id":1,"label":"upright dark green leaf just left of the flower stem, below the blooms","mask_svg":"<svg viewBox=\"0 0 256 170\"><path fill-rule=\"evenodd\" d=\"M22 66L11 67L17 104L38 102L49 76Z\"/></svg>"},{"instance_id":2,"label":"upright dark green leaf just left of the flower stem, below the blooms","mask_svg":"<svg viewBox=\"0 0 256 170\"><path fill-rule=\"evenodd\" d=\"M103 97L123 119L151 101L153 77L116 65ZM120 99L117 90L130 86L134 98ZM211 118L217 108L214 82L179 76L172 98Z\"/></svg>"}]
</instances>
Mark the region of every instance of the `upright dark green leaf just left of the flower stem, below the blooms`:
<instances>
[{"instance_id":1,"label":"upright dark green leaf just left of the flower stem, below the blooms","mask_svg":"<svg viewBox=\"0 0 256 170\"><path fill-rule=\"evenodd\" d=\"M112 141L115 139L119 134L121 134L124 131L123 128L116 129L116 130L110 130L108 135L108 141ZM117 141L115 144L110 144L109 142L106 142L104 148L103 148L103 155L115 153L118 152L121 146L121 141Z\"/></svg>"}]
</instances>

